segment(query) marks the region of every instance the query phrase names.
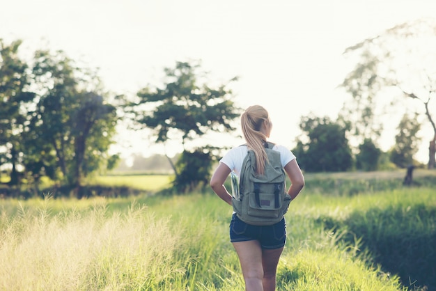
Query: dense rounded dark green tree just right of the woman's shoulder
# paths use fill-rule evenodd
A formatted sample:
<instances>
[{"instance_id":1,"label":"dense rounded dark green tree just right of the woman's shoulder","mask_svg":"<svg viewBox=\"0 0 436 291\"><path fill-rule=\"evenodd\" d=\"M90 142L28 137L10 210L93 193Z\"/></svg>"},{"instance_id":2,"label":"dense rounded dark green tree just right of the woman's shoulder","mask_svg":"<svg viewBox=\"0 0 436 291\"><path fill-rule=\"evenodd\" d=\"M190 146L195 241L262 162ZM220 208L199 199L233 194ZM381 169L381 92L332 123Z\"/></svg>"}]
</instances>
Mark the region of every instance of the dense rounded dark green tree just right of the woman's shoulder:
<instances>
[{"instance_id":1,"label":"dense rounded dark green tree just right of the woman's shoulder","mask_svg":"<svg viewBox=\"0 0 436 291\"><path fill-rule=\"evenodd\" d=\"M351 149L345 137L348 128L328 117L315 116L302 116L299 127L304 136L297 141L293 152L304 171L338 172L352 167Z\"/></svg>"}]
</instances>

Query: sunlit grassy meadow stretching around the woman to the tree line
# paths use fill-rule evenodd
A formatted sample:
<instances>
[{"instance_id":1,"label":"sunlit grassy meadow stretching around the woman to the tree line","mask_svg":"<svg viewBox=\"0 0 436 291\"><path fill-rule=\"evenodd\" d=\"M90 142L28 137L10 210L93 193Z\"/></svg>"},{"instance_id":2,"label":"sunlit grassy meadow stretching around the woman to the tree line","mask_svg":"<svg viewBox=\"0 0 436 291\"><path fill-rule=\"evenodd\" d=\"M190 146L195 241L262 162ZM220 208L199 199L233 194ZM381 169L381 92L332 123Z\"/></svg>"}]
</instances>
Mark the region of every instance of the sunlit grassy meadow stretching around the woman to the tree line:
<instances>
[{"instance_id":1,"label":"sunlit grassy meadow stretching around the woman to the tree line","mask_svg":"<svg viewBox=\"0 0 436 291\"><path fill-rule=\"evenodd\" d=\"M435 175L395 175L309 175L277 290L436 290ZM146 193L1 200L0 290L244 290L231 207L210 191Z\"/></svg>"}]
</instances>

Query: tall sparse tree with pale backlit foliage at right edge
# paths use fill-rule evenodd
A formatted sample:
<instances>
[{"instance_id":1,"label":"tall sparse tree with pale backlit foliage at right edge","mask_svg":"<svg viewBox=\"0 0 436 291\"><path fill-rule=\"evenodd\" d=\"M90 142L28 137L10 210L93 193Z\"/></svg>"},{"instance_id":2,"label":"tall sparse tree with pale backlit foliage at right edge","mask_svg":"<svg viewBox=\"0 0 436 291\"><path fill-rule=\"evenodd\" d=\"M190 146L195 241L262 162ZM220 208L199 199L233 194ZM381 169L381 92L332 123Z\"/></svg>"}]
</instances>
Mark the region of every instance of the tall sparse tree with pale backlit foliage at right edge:
<instances>
[{"instance_id":1,"label":"tall sparse tree with pale backlit foliage at right edge","mask_svg":"<svg viewBox=\"0 0 436 291\"><path fill-rule=\"evenodd\" d=\"M435 168L436 155L436 125L430 109L430 101L436 95L435 31L434 19L421 19L399 24L348 47L345 54L355 53L361 60L343 81L344 88L352 93L355 109L363 109L358 111L362 116L374 116L375 105L382 103L398 112L401 108L395 107L400 104L397 95L409 97L403 109L420 107L433 130L428 168ZM396 90L388 91L389 88ZM370 124L362 120L361 125Z\"/></svg>"}]
</instances>

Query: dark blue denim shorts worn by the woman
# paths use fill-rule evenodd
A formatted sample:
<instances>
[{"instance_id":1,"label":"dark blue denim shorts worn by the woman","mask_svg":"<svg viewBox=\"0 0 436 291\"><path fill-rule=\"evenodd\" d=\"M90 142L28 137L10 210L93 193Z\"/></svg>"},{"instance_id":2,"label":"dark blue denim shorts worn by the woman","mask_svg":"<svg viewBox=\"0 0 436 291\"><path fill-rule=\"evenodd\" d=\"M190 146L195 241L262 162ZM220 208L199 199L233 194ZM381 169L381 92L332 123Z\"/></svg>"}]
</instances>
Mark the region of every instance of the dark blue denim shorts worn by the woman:
<instances>
[{"instance_id":1,"label":"dark blue denim shorts worn by the woman","mask_svg":"<svg viewBox=\"0 0 436 291\"><path fill-rule=\"evenodd\" d=\"M240 220L234 213L230 223L230 241L247 242L258 240L262 249L279 249L286 243L286 222L281 221L272 226L252 226Z\"/></svg>"}]
</instances>

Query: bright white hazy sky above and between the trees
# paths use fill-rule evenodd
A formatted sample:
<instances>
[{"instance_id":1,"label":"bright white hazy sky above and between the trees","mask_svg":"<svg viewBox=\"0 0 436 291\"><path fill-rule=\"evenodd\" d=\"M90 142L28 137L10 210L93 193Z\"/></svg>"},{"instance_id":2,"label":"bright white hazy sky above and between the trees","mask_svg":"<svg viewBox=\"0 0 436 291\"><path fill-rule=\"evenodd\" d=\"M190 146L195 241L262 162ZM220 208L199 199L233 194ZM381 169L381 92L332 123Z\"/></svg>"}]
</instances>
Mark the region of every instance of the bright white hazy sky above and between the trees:
<instances>
[{"instance_id":1,"label":"bright white hazy sky above and between the trees","mask_svg":"<svg viewBox=\"0 0 436 291\"><path fill-rule=\"evenodd\" d=\"M176 61L201 61L211 83L238 76L236 104L263 105L274 124L270 140L292 147L301 116L334 118L350 98L338 88L351 68L345 48L435 11L433 0L14 0L1 4L0 38L23 40L25 52L61 49L98 68L108 90L131 95L161 83ZM181 150L180 141L154 145L148 132L122 130L117 141L124 155ZM391 134L381 146L392 143Z\"/></svg>"}]
</instances>

